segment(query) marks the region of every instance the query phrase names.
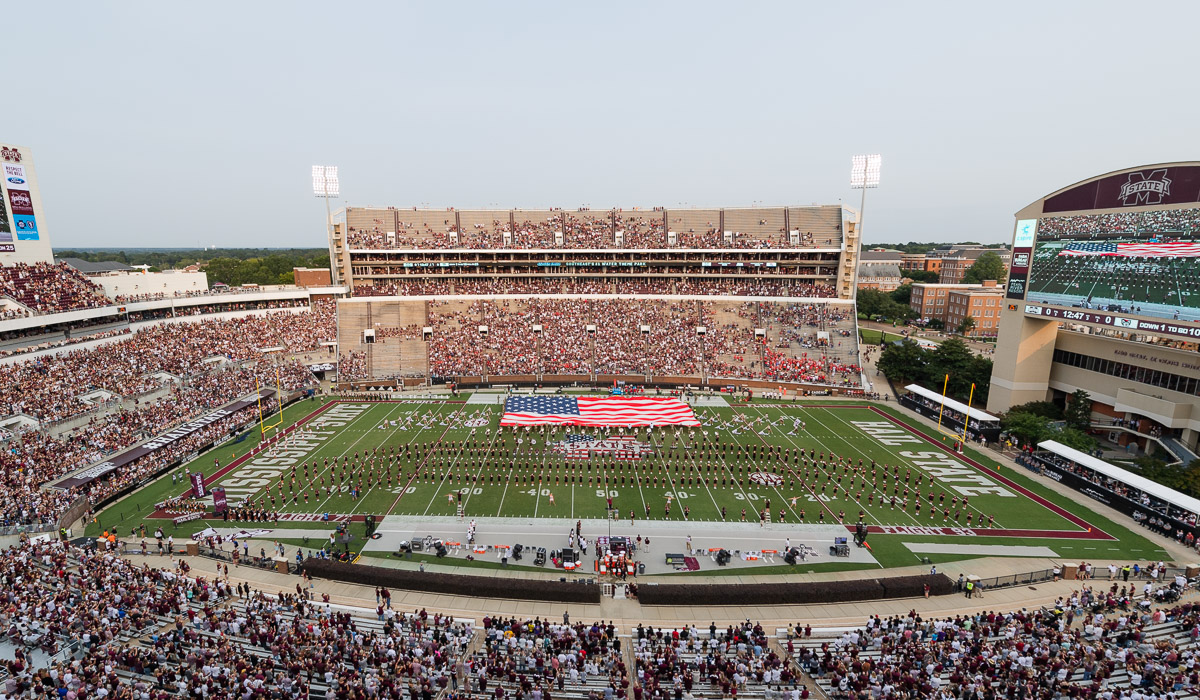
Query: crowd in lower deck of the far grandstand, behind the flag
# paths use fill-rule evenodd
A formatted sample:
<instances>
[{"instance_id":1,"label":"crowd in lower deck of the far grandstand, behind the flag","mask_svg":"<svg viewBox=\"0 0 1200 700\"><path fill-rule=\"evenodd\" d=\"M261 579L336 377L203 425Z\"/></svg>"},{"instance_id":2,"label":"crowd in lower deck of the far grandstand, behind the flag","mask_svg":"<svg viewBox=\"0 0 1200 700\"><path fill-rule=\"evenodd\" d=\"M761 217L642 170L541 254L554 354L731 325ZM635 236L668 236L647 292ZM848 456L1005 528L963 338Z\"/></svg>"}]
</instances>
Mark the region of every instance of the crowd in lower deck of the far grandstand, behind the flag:
<instances>
[{"instance_id":1,"label":"crowd in lower deck of the far grandstand, behind the flag","mask_svg":"<svg viewBox=\"0 0 1200 700\"><path fill-rule=\"evenodd\" d=\"M847 310L650 299L518 299L430 305L434 376L752 377L858 385ZM762 324L767 347L754 334ZM488 329L480 337L479 327ZM540 327L540 333L534 327ZM589 333L588 327L594 327ZM703 334L697 329L703 328ZM415 337L415 331L414 331Z\"/></svg>"}]
</instances>

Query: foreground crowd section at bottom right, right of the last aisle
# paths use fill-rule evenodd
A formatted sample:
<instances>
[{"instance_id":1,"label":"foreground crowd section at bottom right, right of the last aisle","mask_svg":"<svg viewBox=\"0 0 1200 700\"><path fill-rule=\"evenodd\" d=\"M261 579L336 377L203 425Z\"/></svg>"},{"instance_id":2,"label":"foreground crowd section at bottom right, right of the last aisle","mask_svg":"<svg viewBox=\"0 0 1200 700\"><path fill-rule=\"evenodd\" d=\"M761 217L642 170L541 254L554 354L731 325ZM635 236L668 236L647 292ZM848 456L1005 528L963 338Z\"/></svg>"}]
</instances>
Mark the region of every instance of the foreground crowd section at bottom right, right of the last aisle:
<instances>
[{"instance_id":1,"label":"foreground crowd section at bottom right, right of the last aisle","mask_svg":"<svg viewBox=\"0 0 1200 700\"><path fill-rule=\"evenodd\" d=\"M1200 610L1154 609L1178 587L1114 581L1045 610L872 616L832 641L796 635L787 651L835 699L1186 698L1200 687Z\"/></svg>"}]
</instances>

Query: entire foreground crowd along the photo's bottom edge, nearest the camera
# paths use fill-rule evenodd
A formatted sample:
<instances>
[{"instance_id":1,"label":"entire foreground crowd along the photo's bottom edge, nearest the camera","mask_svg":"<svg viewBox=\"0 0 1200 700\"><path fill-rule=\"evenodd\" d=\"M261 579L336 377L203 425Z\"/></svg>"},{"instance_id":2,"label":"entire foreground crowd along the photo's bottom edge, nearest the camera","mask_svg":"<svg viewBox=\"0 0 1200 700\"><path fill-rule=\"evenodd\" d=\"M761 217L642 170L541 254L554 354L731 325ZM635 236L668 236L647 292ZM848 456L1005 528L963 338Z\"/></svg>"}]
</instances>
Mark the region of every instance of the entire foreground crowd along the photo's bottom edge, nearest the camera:
<instances>
[{"instance_id":1,"label":"entire foreground crowd along the photo's bottom edge, nearest the camera","mask_svg":"<svg viewBox=\"0 0 1200 700\"><path fill-rule=\"evenodd\" d=\"M223 566L208 578L137 556L59 539L0 551L5 696L806 700L805 675L856 700L1171 700L1200 687L1187 582L1124 581L1115 567L1044 609L912 610L840 633L799 622L785 636L749 620L622 630L496 614L475 627L400 612L382 588L374 610L335 608L304 576L295 593L265 593Z\"/></svg>"}]
</instances>

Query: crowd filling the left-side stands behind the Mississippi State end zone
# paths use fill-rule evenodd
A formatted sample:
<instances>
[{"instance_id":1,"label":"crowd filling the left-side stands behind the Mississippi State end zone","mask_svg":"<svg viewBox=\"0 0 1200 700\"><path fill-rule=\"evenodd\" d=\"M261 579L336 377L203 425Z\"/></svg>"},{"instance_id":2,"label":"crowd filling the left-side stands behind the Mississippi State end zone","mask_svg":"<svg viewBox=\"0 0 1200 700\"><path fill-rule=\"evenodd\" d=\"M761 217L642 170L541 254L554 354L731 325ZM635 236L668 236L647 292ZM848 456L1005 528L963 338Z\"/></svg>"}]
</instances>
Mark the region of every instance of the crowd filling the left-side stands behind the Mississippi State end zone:
<instances>
[{"instance_id":1,"label":"crowd filling the left-side stands behind the Mississippi State end zone","mask_svg":"<svg viewBox=\"0 0 1200 700\"><path fill-rule=\"evenodd\" d=\"M314 382L296 359L278 364L263 351L316 351L334 337L334 307L242 318L181 322L142 329L85 351L65 351L0 365L0 408L40 424L0 453L0 525L53 522L79 496L96 501L151 473L200 437L250 419L242 412L210 425L191 442L131 463L86 487L40 486L164 432L205 411L264 388L294 390ZM253 361L258 360L258 361ZM102 411L104 409L104 411ZM70 430L50 427L77 420Z\"/></svg>"}]
</instances>

